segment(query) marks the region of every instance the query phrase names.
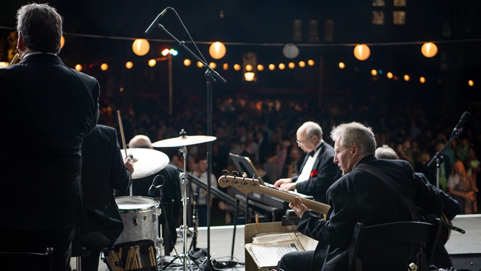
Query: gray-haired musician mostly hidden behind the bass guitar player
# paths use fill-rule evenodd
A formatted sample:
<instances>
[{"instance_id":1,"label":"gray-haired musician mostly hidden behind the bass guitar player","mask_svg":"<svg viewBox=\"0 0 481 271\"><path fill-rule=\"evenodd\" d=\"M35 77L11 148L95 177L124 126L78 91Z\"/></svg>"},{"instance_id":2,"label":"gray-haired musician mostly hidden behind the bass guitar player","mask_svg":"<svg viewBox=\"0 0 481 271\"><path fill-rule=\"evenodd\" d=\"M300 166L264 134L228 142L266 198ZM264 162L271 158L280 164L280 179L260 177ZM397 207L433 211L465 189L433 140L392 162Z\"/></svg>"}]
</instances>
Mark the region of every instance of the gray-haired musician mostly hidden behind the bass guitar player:
<instances>
[{"instance_id":1,"label":"gray-haired musician mostly hidden behind the bass guitar player","mask_svg":"<svg viewBox=\"0 0 481 271\"><path fill-rule=\"evenodd\" d=\"M398 159L398 155L396 154L396 152L387 145L383 145L382 147L377 148L375 155L377 159ZM427 222L432 222L434 218L443 217L443 215L446 216L449 221L451 221L456 215L461 213L461 208L459 207L457 200L452 198L443 190L434 187L431 183L429 183L428 178L426 178L423 173L415 172L414 174L418 175L426 183L426 185L428 185L434 190L437 190L443 199L444 209L442 211L442 214L429 214L424 212L423 210L420 210L421 214L423 214ZM434 256L431 261L431 264L435 265L438 268L449 269L453 266L448 251L446 251L446 248L444 247L444 244L446 244L447 241L448 228L442 227L438 237L438 242L436 243L436 248L434 250Z\"/></svg>"}]
</instances>

